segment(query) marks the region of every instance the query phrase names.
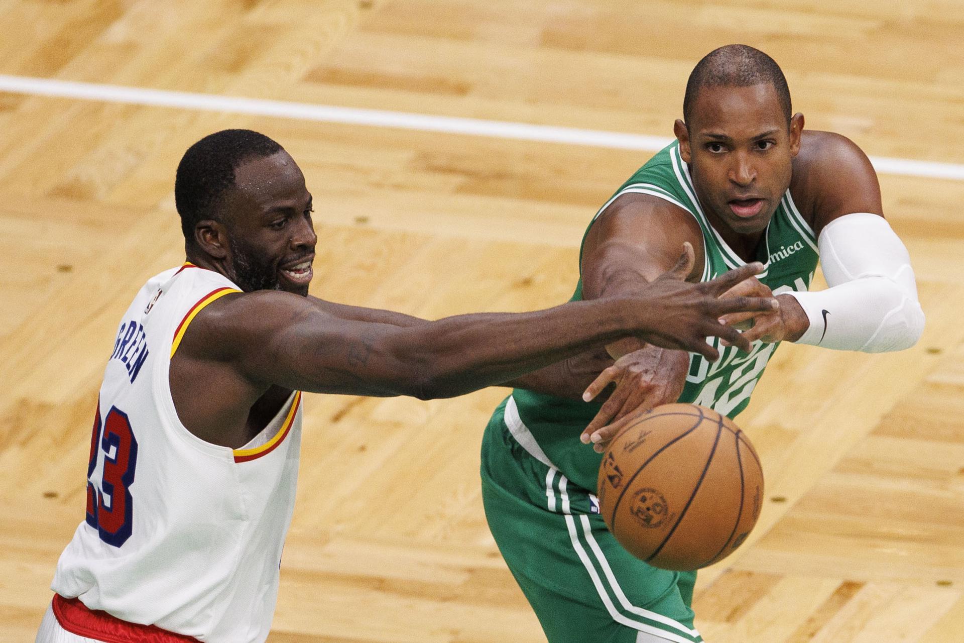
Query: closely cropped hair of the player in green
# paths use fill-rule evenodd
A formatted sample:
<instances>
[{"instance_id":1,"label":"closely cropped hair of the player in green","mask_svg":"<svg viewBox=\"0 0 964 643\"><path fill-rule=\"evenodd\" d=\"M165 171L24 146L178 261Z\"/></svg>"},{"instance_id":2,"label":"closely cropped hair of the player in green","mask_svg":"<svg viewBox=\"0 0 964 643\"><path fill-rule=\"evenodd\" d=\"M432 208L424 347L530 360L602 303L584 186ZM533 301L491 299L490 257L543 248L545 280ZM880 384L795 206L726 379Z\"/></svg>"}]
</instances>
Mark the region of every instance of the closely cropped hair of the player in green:
<instances>
[{"instance_id":1,"label":"closely cropped hair of the player in green","mask_svg":"<svg viewBox=\"0 0 964 643\"><path fill-rule=\"evenodd\" d=\"M776 61L760 49L745 44L728 44L703 57L686 81L683 96L683 121L693 121L696 96L704 87L751 87L769 83L776 90L780 108L790 123L792 107L787 78Z\"/></svg>"}]
</instances>

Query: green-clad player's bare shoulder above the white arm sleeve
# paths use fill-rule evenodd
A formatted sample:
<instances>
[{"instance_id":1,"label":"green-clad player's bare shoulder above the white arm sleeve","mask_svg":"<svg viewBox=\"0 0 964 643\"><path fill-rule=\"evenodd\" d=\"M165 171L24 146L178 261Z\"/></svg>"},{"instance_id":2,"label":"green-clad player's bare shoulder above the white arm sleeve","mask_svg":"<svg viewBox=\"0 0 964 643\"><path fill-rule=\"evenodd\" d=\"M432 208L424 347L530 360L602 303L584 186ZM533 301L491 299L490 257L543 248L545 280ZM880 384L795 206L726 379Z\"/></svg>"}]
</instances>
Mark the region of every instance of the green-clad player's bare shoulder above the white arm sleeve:
<instances>
[{"instance_id":1,"label":"green-clad player's bare shoulder above the white arm sleeve","mask_svg":"<svg viewBox=\"0 0 964 643\"><path fill-rule=\"evenodd\" d=\"M834 132L805 130L793 159L790 195L819 235L828 223L854 212L883 216L877 174L864 150Z\"/></svg>"}]
</instances>

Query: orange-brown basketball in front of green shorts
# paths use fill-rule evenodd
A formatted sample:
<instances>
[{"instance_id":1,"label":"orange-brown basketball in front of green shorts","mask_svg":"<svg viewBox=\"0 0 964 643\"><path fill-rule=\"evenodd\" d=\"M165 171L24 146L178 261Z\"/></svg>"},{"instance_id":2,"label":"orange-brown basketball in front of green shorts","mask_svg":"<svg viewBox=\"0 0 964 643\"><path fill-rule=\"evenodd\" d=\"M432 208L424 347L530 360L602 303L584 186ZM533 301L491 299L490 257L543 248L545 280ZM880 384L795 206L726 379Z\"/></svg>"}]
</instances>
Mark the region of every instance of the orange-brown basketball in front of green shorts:
<instances>
[{"instance_id":1,"label":"orange-brown basketball in front of green shorts","mask_svg":"<svg viewBox=\"0 0 964 643\"><path fill-rule=\"evenodd\" d=\"M624 548L682 572L722 560L746 540L760 517L763 470L729 417L667 404L610 442L598 490L603 520Z\"/></svg>"}]
</instances>

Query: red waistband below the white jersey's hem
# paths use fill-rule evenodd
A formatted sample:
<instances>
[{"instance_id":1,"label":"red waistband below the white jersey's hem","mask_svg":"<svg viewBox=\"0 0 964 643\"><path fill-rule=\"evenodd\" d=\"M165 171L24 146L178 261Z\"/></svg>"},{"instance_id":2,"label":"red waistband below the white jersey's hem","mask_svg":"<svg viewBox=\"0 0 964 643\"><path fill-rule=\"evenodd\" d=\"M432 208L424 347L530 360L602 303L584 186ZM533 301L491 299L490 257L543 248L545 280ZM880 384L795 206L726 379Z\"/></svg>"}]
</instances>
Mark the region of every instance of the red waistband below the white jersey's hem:
<instances>
[{"instance_id":1,"label":"red waistband below the white jersey's hem","mask_svg":"<svg viewBox=\"0 0 964 643\"><path fill-rule=\"evenodd\" d=\"M80 599L65 599L60 594L54 594L53 610L57 622L68 632L104 643L199 643L193 636L121 621L105 611L91 609Z\"/></svg>"}]
</instances>

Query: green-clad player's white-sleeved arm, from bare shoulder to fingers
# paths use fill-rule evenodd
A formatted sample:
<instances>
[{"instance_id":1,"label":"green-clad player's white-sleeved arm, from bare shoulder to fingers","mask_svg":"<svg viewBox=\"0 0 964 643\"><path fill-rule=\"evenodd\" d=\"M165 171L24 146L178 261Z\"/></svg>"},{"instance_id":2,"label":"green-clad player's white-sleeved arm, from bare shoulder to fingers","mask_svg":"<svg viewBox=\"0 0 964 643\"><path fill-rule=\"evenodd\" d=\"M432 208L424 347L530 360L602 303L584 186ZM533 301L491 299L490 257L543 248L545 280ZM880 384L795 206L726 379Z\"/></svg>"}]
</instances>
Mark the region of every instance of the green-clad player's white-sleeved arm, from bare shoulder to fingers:
<instances>
[{"instance_id":1,"label":"green-clad player's white-sleeved arm, from bare shoulder to fingers","mask_svg":"<svg viewBox=\"0 0 964 643\"><path fill-rule=\"evenodd\" d=\"M883 218L877 175L867 155L848 139L812 133L803 159L807 180L794 197L817 232L827 287L778 295L780 314L752 315L745 335L867 353L913 346L924 331L924 311L910 255ZM765 286L738 286L733 294L767 296ZM747 315L729 315L736 324Z\"/></svg>"}]
</instances>

